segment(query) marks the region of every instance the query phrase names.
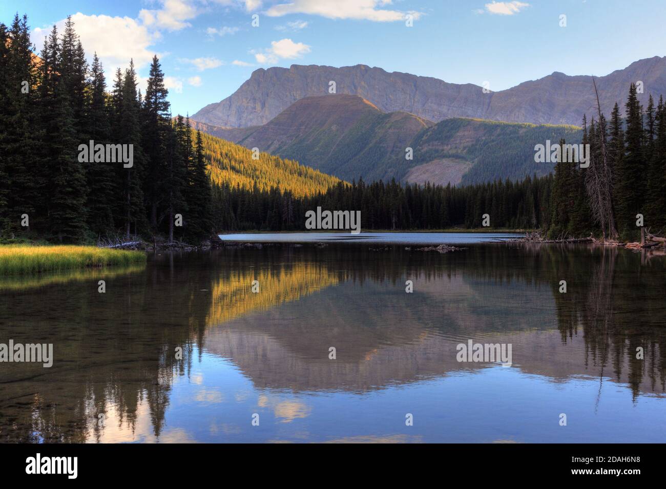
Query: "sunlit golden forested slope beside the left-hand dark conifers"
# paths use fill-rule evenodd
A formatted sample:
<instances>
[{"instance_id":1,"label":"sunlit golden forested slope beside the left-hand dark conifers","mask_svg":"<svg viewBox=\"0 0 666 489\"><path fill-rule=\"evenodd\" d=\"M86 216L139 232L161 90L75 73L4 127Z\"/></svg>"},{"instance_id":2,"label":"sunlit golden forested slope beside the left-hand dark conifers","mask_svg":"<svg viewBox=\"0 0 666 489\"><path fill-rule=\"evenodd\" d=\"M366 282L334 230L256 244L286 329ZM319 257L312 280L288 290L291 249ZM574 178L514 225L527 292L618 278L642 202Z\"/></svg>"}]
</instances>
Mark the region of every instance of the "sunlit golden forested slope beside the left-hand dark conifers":
<instances>
[{"instance_id":1,"label":"sunlit golden forested slope beside the left-hand dark conifers","mask_svg":"<svg viewBox=\"0 0 666 489\"><path fill-rule=\"evenodd\" d=\"M261 152L258 160L253 160L252 151L238 144L210 134L202 133L201 136L210 180L215 186L252 189L256 185L260 190L279 186L295 197L303 197L326 192L340 182L334 176L266 152Z\"/></svg>"}]
</instances>

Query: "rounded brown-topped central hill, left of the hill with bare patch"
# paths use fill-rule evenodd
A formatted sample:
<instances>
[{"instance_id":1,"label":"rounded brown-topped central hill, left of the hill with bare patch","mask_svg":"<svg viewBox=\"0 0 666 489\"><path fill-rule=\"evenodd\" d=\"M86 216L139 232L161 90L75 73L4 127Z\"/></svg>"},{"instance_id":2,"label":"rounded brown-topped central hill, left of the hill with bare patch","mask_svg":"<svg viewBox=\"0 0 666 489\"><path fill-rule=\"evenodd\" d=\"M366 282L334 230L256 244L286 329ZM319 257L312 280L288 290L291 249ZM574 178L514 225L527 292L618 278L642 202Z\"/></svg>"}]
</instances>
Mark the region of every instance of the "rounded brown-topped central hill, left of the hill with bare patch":
<instances>
[{"instance_id":1,"label":"rounded brown-topped central hill, left of the hill with bare patch","mask_svg":"<svg viewBox=\"0 0 666 489\"><path fill-rule=\"evenodd\" d=\"M395 174L392 155L404 154L428 126L406 112L386 114L359 96L332 94L298 100L238 143L329 174L378 180Z\"/></svg>"}]
</instances>

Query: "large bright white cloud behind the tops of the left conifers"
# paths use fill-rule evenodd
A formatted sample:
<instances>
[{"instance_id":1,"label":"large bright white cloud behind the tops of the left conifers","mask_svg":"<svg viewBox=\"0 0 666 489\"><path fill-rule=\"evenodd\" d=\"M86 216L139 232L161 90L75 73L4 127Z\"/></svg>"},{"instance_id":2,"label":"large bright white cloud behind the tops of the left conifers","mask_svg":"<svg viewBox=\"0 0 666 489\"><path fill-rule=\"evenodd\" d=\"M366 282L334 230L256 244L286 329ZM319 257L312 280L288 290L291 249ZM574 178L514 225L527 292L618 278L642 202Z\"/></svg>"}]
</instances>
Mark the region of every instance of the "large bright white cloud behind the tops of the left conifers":
<instances>
[{"instance_id":1,"label":"large bright white cloud behind the tops of the left conifers","mask_svg":"<svg viewBox=\"0 0 666 489\"><path fill-rule=\"evenodd\" d=\"M74 29L86 50L88 61L93 53L102 61L107 73L115 73L117 67L129 66L130 59L134 59L137 69L150 63L154 51L150 49L159 34L150 33L148 29L129 17L109 17L109 15L72 15ZM65 19L55 23L59 33L63 32ZM31 41L39 51L44 45L44 39L51 32L51 28L37 27L31 33ZM107 83L111 83L107 80Z\"/></svg>"}]
</instances>

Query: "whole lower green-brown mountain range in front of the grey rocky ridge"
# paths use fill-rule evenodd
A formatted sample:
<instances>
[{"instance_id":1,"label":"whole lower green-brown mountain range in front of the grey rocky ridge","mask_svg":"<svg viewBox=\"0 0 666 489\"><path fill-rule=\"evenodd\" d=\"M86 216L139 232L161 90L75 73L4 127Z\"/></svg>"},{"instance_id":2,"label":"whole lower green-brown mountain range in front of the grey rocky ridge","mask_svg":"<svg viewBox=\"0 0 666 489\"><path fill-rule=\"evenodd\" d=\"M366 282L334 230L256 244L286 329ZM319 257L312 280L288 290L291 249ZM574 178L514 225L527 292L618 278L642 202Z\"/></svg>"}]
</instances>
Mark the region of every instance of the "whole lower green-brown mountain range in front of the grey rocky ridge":
<instances>
[{"instance_id":1,"label":"whole lower green-brown mountain range in front of the grey rocky ridge","mask_svg":"<svg viewBox=\"0 0 666 489\"><path fill-rule=\"evenodd\" d=\"M574 126L464 118L434 124L407 112L383 112L346 94L302 98L262 126L198 127L347 181L396 178L442 185L542 176L553 165L535 164L535 144L581 140ZM407 148L412 160L406 159Z\"/></svg>"}]
</instances>

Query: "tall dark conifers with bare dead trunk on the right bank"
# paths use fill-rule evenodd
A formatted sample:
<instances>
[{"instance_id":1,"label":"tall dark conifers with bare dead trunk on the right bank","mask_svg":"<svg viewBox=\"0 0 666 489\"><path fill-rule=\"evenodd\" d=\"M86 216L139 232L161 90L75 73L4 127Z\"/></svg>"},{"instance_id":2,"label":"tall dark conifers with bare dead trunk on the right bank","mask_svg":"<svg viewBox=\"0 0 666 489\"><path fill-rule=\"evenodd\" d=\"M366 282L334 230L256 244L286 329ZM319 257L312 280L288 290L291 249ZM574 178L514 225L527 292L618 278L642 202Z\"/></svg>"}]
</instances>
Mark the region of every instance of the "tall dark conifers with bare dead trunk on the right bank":
<instances>
[{"instance_id":1,"label":"tall dark conifers with bare dead trunk on the right bank","mask_svg":"<svg viewBox=\"0 0 666 489\"><path fill-rule=\"evenodd\" d=\"M610 122L583 117L583 144L589 144L588 168L555 165L551 234L590 232L610 240L636 241L640 227L653 234L666 229L666 105L663 96L647 107L631 83L624 117L615 103Z\"/></svg>"}]
</instances>

